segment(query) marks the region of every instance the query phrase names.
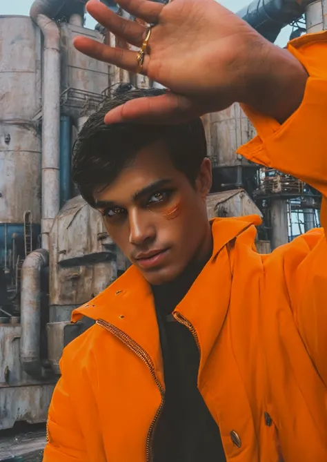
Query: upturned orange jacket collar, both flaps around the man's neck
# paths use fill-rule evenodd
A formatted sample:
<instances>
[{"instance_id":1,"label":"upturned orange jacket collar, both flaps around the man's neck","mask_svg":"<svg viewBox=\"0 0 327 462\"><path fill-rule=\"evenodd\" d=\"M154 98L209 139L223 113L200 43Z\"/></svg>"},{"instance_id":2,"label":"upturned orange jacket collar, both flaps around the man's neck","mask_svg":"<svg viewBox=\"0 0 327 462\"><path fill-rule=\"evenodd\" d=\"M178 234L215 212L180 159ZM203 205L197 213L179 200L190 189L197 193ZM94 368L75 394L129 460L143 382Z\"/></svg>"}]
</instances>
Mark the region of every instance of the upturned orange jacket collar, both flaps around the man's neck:
<instances>
[{"instance_id":1,"label":"upturned orange jacket collar, both flaps around the man's neck","mask_svg":"<svg viewBox=\"0 0 327 462\"><path fill-rule=\"evenodd\" d=\"M230 260L226 244L251 227L260 224L257 215L212 220L212 257L175 311L195 327L201 347L201 365L224 323L231 289ZM115 280L97 297L72 312L72 322L82 316L105 320L137 342L161 369L159 329L148 282L135 268Z\"/></svg>"}]
</instances>

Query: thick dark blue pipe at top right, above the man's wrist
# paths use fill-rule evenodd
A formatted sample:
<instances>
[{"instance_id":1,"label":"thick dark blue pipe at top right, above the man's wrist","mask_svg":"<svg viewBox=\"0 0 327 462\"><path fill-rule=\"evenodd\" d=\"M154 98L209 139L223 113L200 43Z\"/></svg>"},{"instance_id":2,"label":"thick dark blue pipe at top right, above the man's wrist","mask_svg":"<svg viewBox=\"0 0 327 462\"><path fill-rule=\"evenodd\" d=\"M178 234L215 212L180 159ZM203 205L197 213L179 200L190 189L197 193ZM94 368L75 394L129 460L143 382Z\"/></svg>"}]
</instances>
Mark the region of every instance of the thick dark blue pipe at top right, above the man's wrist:
<instances>
[{"instance_id":1,"label":"thick dark blue pipe at top right, above the man's wrist","mask_svg":"<svg viewBox=\"0 0 327 462\"><path fill-rule=\"evenodd\" d=\"M274 42L287 24L301 18L315 0L254 0L237 15L255 28L269 41Z\"/></svg>"}]
</instances>

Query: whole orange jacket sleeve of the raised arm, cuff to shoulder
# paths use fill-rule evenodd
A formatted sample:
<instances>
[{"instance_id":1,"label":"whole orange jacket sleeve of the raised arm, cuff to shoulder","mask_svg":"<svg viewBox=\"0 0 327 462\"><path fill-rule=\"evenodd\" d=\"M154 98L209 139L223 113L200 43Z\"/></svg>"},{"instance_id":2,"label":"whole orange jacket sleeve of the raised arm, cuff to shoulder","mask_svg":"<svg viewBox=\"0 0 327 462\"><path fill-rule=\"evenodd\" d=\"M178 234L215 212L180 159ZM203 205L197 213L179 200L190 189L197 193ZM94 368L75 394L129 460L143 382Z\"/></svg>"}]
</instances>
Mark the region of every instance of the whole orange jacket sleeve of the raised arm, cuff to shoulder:
<instances>
[{"instance_id":1,"label":"whole orange jacket sleeve of the raised arm, cuff to shoulder","mask_svg":"<svg viewBox=\"0 0 327 462\"><path fill-rule=\"evenodd\" d=\"M287 256L284 272L297 329L327 385L327 32L300 37L288 44L288 50L308 71L303 102L282 125L244 107L258 135L238 152L322 193L322 229L286 246L293 266Z\"/></svg>"}]
</instances>

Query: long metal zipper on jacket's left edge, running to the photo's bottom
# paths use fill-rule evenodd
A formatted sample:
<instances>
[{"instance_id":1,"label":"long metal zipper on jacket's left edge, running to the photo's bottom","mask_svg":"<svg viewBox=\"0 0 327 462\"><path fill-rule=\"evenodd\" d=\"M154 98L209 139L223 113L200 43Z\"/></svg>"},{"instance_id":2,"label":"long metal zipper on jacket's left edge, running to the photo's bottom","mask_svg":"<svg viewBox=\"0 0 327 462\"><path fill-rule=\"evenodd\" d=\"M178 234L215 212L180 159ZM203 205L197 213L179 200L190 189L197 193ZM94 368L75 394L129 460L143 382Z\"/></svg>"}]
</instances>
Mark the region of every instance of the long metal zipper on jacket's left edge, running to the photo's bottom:
<instances>
[{"instance_id":1,"label":"long metal zipper on jacket's left edge, running to the photo's bottom","mask_svg":"<svg viewBox=\"0 0 327 462\"><path fill-rule=\"evenodd\" d=\"M164 402L165 402L165 392L164 388L161 386L161 383L159 382L156 374L155 374L155 366L152 363L152 359L148 355L148 353L139 346L135 340L132 340L130 336L128 336L125 332L121 331L118 329L118 327L107 323L103 319L98 319L97 320L97 325L103 327L107 331L109 331L111 334L113 334L115 337L119 338L121 342L123 342L126 347L130 348L132 352L134 352L139 358L143 361L143 363L146 364L148 369L150 370L150 373L152 375L152 378L155 381L155 384L157 385L159 392L161 394L161 403L157 409L157 412L155 414L155 417L152 420L152 423L150 425L149 431L148 431L148 436L146 437L146 461L147 462L152 462L152 438L153 438L153 430L155 430L155 425L157 423L157 420L161 414L162 408L164 407Z\"/></svg>"}]
</instances>

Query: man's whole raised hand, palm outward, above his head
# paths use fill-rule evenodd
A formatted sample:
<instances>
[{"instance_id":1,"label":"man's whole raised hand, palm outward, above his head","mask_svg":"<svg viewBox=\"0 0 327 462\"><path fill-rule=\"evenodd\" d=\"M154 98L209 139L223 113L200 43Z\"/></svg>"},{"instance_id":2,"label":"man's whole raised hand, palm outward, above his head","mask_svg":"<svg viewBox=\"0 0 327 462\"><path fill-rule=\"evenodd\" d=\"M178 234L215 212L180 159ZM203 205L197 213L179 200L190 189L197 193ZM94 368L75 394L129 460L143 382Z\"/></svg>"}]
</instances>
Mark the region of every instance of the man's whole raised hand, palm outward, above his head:
<instances>
[{"instance_id":1,"label":"man's whole raised hand, palm outward, above his head","mask_svg":"<svg viewBox=\"0 0 327 462\"><path fill-rule=\"evenodd\" d=\"M254 102L252 106L257 102L260 110L260 96L267 89L260 86L273 84L273 89L280 80L275 65L289 64L294 71L299 68L290 53L270 44L214 0L171 0L167 5L120 0L119 5L146 23L155 23L141 73L170 92L120 106L106 116L108 123L179 123L236 101ZM141 48L146 26L116 15L97 0L90 0L86 8L110 32ZM86 55L137 71L136 51L112 48L86 37L77 37L74 44ZM266 105L269 99L273 103L274 96L274 92L266 96ZM266 110L269 112L273 110Z\"/></svg>"}]
</instances>

